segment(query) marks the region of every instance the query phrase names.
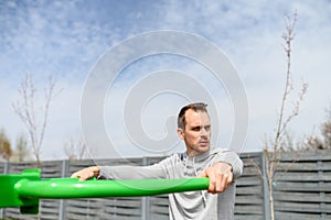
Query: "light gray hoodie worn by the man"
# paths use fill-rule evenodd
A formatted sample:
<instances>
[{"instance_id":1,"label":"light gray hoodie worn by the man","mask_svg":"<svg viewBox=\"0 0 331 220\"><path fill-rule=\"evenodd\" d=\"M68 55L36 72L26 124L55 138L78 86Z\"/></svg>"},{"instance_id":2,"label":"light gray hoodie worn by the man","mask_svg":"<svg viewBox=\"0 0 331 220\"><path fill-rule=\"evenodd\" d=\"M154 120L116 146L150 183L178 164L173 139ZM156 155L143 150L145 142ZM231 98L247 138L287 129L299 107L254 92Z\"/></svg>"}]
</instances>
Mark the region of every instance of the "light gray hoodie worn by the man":
<instances>
[{"instance_id":1,"label":"light gray hoodie worn by the man","mask_svg":"<svg viewBox=\"0 0 331 220\"><path fill-rule=\"evenodd\" d=\"M213 148L194 157L189 157L186 153L177 153L151 166L100 166L99 178L190 178L216 162L231 164L234 179L243 173L243 162L235 152ZM206 190L170 194L169 202L170 219L232 220L235 184L216 195L209 194Z\"/></svg>"}]
</instances>

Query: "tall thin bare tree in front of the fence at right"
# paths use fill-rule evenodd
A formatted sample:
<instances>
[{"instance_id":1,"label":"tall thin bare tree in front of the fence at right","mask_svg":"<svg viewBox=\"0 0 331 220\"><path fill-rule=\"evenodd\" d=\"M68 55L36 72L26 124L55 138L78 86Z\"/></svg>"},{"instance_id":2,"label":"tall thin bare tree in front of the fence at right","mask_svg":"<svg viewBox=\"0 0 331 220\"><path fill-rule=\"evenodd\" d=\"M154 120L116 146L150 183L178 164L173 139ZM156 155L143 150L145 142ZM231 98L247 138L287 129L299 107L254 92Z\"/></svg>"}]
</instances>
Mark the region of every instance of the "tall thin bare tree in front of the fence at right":
<instances>
[{"instance_id":1,"label":"tall thin bare tree in front of the fence at right","mask_svg":"<svg viewBox=\"0 0 331 220\"><path fill-rule=\"evenodd\" d=\"M285 42L284 50L287 58L287 68L286 68L286 80L285 88L281 96L280 108L278 110L276 117L276 125L274 129L274 134L265 141L264 144L264 154L266 156L265 170L266 177L263 176L261 169L256 165L257 172L263 177L263 180L267 183L268 193L269 193L269 207L270 207L270 219L275 219L275 210L274 210L274 184L278 180L275 177L276 170L280 165L281 153L284 150L288 147L288 144L292 144L291 139L288 133L289 123L299 114L300 105L303 100L303 96L307 92L308 84L302 82L301 89L298 92L298 97L293 102L293 106L288 111L289 96L293 91L292 84L292 73L291 73L291 53L292 53L292 42L295 40L295 26L297 23L297 12L293 13L293 18L286 16L286 31L282 33L282 40ZM289 146L292 147L292 146ZM295 163L295 161L293 161ZM291 167L289 165L284 174ZM282 175L279 175L280 178Z\"/></svg>"}]
</instances>

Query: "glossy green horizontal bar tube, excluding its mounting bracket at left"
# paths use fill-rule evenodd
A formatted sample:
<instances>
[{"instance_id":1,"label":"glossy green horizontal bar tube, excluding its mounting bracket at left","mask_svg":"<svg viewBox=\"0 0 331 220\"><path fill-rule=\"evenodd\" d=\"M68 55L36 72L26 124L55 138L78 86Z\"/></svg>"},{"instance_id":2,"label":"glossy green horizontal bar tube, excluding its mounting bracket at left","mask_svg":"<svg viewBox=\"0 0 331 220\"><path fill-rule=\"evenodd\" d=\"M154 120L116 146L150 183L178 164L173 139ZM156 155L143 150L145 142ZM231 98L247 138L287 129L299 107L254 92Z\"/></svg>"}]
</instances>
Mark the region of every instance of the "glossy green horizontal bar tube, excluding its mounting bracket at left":
<instances>
[{"instance_id":1,"label":"glossy green horizontal bar tube, excluding its mounting bracket at left","mask_svg":"<svg viewBox=\"0 0 331 220\"><path fill-rule=\"evenodd\" d=\"M77 178L21 179L15 191L21 198L68 199L139 197L207 189L207 178L85 180Z\"/></svg>"}]
</instances>

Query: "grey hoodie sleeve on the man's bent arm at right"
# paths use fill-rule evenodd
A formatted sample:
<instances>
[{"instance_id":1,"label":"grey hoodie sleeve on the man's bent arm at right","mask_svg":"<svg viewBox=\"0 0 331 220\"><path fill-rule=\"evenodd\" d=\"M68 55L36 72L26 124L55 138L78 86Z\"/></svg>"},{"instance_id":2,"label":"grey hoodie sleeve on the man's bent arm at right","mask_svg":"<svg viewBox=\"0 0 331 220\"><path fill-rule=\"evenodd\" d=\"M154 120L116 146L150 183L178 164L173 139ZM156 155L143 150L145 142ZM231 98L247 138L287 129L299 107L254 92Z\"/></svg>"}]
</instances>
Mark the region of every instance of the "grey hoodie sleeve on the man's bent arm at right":
<instances>
[{"instance_id":1,"label":"grey hoodie sleeve on the man's bent arm at right","mask_svg":"<svg viewBox=\"0 0 331 220\"><path fill-rule=\"evenodd\" d=\"M242 176L244 163L235 152L229 150L220 150L216 160L218 162L225 162L232 166L235 179Z\"/></svg>"}]
</instances>

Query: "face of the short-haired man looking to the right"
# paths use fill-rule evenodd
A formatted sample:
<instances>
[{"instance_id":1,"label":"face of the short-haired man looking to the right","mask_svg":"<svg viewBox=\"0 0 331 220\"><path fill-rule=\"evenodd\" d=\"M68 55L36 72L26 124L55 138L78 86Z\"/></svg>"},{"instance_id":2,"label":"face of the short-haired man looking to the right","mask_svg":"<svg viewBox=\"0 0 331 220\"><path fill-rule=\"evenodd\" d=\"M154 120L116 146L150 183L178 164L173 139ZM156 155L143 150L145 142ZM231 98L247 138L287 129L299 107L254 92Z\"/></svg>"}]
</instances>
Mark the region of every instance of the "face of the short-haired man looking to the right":
<instances>
[{"instance_id":1,"label":"face of the short-haired man looking to the right","mask_svg":"<svg viewBox=\"0 0 331 220\"><path fill-rule=\"evenodd\" d=\"M185 112L184 130L178 129L179 136L185 142L189 156L195 156L210 150L211 122L206 112L189 109Z\"/></svg>"}]
</instances>

